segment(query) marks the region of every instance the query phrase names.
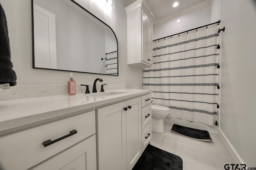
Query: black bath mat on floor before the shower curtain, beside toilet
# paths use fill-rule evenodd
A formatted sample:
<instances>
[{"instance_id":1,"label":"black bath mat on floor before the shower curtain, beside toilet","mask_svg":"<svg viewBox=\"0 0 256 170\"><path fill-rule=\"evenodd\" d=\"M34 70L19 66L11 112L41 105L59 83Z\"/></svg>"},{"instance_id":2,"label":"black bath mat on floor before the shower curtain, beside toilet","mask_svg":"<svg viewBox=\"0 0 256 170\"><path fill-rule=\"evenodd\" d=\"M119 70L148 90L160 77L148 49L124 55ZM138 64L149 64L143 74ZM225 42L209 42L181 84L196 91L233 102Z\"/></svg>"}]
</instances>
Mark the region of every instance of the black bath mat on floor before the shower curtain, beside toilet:
<instances>
[{"instance_id":1,"label":"black bath mat on floor before the shower curtain, beside toilet","mask_svg":"<svg viewBox=\"0 0 256 170\"><path fill-rule=\"evenodd\" d=\"M175 133L178 133L179 135L196 139L199 141L212 141L208 131L193 129L190 127L185 127L185 126L176 125L176 124L172 126L171 130Z\"/></svg>"}]
</instances>

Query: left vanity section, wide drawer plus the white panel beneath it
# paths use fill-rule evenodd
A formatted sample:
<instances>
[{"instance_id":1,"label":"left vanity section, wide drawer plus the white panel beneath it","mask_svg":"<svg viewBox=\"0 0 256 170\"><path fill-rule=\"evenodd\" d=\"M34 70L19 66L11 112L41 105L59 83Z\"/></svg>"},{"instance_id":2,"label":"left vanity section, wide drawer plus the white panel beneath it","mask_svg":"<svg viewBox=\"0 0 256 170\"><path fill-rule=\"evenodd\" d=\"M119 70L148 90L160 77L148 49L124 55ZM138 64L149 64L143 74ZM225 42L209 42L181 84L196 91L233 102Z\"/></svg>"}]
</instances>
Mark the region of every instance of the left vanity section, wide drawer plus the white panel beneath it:
<instances>
[{"instance_id":1,"label":"left vanity section, wide drawer plus the white panel beneath it","mask_svg":"<svg viewBox=\"0 0 256 170\"><path fill-rule=\"evenodd\" d=\"M3 135L0 169L96 170L95 133L94 110Z\"/></svg>"}]
</instances>

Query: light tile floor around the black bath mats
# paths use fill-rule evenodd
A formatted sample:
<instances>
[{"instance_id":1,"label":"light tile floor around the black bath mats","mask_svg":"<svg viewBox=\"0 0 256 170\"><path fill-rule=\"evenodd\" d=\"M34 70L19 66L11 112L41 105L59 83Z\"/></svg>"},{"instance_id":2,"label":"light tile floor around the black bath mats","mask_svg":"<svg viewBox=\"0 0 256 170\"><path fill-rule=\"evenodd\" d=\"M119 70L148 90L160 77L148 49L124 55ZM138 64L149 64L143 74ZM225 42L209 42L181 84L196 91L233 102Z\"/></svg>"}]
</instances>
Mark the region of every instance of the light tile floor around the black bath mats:
<instances>
[{"instance_id":1,"label":"light tile floor around the black bath mats","mask_svg":"<svg viewBox=\"0 0 256 170\"><path fill-rule=\"evenodd\" d=\"M225 164L234 164L218 134L210 133L212 141L204 142L178 135L172 125L164 124L164 133L152 132L151 145L178 155L183 170L224 170Z\"/></svg>"}]
</instances>

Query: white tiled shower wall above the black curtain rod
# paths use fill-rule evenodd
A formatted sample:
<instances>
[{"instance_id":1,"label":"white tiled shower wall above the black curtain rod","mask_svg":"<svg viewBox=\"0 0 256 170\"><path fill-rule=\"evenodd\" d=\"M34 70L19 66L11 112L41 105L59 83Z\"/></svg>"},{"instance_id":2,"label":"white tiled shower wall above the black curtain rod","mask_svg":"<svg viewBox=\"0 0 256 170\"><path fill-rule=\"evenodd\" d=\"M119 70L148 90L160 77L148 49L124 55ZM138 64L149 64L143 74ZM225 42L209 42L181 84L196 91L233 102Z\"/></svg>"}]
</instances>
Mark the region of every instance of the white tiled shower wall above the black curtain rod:
<instances>
[{"instance_id":1,"label":"white tiled shower wall above the black curtain rod","mask_svg":"<svg viewBox=\"0 0 256 170\"><path fill-rule=\"evenodd\" d=\"M180 20L180 22L177 22ZM153 39L180 33L211 21L211 3L209 0L162 18L153 25Z\"/></svg>"}]
</instances>

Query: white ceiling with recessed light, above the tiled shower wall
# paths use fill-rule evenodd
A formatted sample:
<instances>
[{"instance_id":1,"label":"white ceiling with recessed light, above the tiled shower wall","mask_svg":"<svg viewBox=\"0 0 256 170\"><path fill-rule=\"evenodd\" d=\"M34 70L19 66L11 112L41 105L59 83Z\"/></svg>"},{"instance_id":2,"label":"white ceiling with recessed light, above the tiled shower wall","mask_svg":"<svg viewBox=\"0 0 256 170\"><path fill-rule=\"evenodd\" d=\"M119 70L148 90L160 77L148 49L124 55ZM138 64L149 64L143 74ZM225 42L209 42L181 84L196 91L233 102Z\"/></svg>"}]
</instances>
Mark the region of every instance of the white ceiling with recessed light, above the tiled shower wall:
<instances>
[{"instance_id":1,"label":"white ceiling with recessed light, above the tiled shower wall","mask_svg":"<svg viewBox=\"0 0 256 170\"><path fill-rule=\"evenodd\" d=\"M128 6L136 0L124 0L124 5ZM189 8L205 0L145 0L150 8L154 18L159 20L166 16L172 15L176 12ZM172 7L174 2L178 1L180 4L176 8Z\"/></svg>"}]
</instances>

